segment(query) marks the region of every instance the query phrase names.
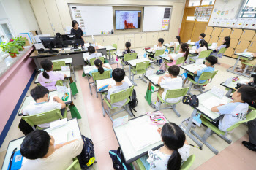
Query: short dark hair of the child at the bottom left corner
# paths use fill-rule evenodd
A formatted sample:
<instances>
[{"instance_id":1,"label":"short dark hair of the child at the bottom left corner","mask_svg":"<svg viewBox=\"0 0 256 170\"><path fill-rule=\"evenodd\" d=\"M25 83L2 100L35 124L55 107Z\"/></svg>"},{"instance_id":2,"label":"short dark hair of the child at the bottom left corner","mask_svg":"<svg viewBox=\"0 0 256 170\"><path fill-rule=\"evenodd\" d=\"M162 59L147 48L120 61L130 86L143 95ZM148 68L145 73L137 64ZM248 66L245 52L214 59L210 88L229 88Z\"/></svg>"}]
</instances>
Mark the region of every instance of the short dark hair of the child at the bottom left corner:
<instances>
[{"instance_id":1,"label":"short dark hair of the child at the bottom left corner","mask_svg":"<svg viewBox=\"0 0 256 170\"><path fill-rule=\"evenodd\" d=\"M43 158L49 150L50 135L43 130L32 131L25 136L20 153L28 159Z\"/></svg>"}]
</instances>

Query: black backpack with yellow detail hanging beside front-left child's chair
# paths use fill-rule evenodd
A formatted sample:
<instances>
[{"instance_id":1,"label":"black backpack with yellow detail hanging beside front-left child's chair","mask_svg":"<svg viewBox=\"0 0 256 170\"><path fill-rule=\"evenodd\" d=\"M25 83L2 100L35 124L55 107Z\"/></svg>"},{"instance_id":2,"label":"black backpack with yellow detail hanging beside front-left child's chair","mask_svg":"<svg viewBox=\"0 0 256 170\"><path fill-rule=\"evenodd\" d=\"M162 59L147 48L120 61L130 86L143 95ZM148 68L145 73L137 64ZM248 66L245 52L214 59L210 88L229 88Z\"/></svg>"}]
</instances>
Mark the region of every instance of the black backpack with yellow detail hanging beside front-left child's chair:
<instances>
[{"instance_id":1,"label":"black backpack with yellow detail hanging beside front-left child's chair","mask_svg":"<svg viewBox=\"0 0 256 170\"><path fill-rule=\"evenodd\" d=\"M91 158L95 158L95 153L94 153L94 143L91 141L91 139L86 138L85 136L82 135L83 139L83 150L78 155L78 160L81 169L88 169L90 166L93 165L93 163L89 164L87 166L87 163L89 163ZM94 161L94 163L97 163L97 161Z\"/></svg>"}]
</instances>

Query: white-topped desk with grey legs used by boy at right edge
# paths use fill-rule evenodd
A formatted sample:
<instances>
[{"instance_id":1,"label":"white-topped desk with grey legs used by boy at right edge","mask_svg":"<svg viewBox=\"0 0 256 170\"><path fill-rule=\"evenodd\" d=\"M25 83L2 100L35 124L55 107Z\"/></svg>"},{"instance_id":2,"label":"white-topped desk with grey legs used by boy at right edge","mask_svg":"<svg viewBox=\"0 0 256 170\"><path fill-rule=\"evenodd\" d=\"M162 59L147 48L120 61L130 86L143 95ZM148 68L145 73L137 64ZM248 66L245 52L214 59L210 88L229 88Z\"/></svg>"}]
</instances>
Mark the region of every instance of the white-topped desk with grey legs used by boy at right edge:
<instances>
[{"instance_id":1,"label":"white-topped desk with grey legs used by boy at right edge","mask_svg":"<svg viewBox=\"0 0 256 170\"><path fill-rule=\"evenodd\" d=\"M181 125L179 125L182 129L182 131L184 131L185 134L187 134L187 136L189 136L197 145L198 147L202 147L203 144L201 144L200 142L198 142L197 139L195 139L195 136L198 136L197 133L195 131L192 132L191 128L192 128L192 123L193 123L193 117L197 114L197 112L200 112L201 114L203 114L204 116L208 117L209 120L211 121L217 121L219 120L222 115L219 115L217 114L216 112L211 112L211 109L208 109L206 107L203 106L203 104L200 104L200 101L204 101L206 100L207 98L211 98L212 96L215 96L213 93L211 93L211 90L208 90L204 93L200 93L199 95L197 95L197 98L199 100L199 106L194 108L191 116L184 120L183 122L186 122L187 120L189 120L189 123L188 125L184 125L184 123L182 122ZM225 101L227 101L227 103L229 103L230 101L233 101L232 99L230 98L227 98L226 96L223 96L222 98L224 98ZM190 133L191 131L191 133ZM195 136L192 136L195 135Z\"/></svg>"}]
</instances>

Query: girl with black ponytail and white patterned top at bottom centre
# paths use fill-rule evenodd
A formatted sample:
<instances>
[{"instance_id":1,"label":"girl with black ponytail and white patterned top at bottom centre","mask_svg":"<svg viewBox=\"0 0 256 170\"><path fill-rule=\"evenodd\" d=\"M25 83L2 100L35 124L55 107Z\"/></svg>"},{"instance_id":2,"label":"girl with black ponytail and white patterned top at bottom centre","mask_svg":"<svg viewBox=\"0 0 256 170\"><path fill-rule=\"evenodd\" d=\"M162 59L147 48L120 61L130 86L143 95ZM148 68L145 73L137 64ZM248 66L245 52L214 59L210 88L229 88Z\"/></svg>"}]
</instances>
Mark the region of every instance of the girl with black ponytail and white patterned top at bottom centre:
<instances>
[{"instance_id":1,"label":"girl with black ponytail and white patterned top at bottom centre","mask_svg":"<svg viewBox=\"0 0 256 170\"><path fill-rule=\"evenodd\" d=\"M158 150L148 150L148 155L140 158L146 170L178 170L189 157L190 146L186 136L175 123L165 123L157 130L164 146Z\"/></svg>"}]
</instances>

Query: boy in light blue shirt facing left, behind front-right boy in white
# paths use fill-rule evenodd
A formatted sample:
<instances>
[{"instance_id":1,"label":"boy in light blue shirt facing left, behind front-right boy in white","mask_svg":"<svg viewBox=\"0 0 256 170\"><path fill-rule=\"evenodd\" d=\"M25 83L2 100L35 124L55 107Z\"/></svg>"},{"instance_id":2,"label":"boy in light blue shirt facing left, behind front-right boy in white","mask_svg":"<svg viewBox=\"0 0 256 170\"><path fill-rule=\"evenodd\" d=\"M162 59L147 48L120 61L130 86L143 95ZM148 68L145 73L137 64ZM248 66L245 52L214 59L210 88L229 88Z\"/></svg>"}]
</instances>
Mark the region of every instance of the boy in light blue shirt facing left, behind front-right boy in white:
<instances>
[{"instance_id":1,"label":"boy in light blue shirt facing left, behind front-right boy in white","mask_svg":"<svg viewBox=\"0 0 256 170\"><path fill-rule=\"evenodd\" d=\"M195 71L194 74L197 74L196 77L194 77L190 74L187 74L187 77L189 77L192 80L195 80L195 82L198 82L199 77L203 72L213 72L214 71L214 64L217 62L218 62L218 59L216 57L208 56L208 58L206 58L206 62L205 62L207 67ZM187 78L184 80L184 82L186 82L186 81L187 81ZM199 81L199 83L203 83L203 82L206 82L206 80Z\"/></svg>"}]
</instances>

